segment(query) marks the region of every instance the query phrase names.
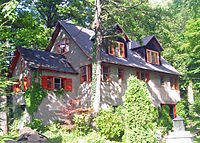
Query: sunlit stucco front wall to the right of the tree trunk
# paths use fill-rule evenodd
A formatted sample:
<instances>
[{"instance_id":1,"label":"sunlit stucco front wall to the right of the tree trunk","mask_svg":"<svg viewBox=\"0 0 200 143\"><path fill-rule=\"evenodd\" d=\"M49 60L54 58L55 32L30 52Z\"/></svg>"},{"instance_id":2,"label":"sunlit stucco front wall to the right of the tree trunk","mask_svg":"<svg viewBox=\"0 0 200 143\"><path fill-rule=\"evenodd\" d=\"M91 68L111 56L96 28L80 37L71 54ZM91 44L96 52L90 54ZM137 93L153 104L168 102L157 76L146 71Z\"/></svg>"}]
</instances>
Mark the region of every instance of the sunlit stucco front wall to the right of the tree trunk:
<instances>
[{"instance_id":1,"label":"sunlit stucco front wall to the right of the tree trunk","mask_svg":"<svg viewBox=\"0 0 200 143\"><path fill-rule=\"evenodd\" d=\"M136 70L134 68L108 65L110 66L110 82L101 82L101 101L102 107L107 108L108 105L122 105L122 96L127 89L127 80L130 75L136 76ZM124 80L118 80L118 68L124 69ZM145 71L147 72L147 71ZM163 74L162 74L163 75ZM180 91L171 89L170 76L164 75L164 85L160 84L160 73L149 72L150 80L147 84L148 92L151 95L151 102L156 107L160 104L176 104L180 100Z\"/></svg>"}]
</instances>

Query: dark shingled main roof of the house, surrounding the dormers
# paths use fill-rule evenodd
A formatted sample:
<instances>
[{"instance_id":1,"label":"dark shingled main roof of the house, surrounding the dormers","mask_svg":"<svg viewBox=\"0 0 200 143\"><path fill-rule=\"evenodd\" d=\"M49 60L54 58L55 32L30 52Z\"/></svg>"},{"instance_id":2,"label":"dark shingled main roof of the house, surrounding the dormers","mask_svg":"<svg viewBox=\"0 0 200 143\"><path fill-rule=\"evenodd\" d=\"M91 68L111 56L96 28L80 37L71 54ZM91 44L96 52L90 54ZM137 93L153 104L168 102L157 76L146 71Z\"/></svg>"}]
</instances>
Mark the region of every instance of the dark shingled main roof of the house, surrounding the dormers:
<instances>
[{"instance_id":1,"label":"dark shingled main roof of the house, surrounding the dormers","mask_svg":"<svg viewBox=\"0 0 200 143\"><path fill-rule=\"evenodd\" d=\"M94 31L88 28L83 28L74 24L66 23L64 21L59 21L59 23L63 26L63 28L72 36L72 38L76 41L76 43L80 46L80 48L87 54L87 56L92 57L92 46L93 41L91 37L94 36ZM147 45L152 38L155 36L148 36L143 39L142 45L140 45L139 41L132 41L134 48L141 47ZM168 73L173 75L181 75L174 67L172 67L164 58L161 58L161 65L154 65L145 62L143 58L141 58L133 49L127 48L128 57L120 58L116 56L111 56L102 52L102 61L114 64L120 64L125 66L130 66L134 68L140 68L144 70L157 71L162 73ZM161 47L161 50L162 47Z\"/></svg>"}]
</instances>

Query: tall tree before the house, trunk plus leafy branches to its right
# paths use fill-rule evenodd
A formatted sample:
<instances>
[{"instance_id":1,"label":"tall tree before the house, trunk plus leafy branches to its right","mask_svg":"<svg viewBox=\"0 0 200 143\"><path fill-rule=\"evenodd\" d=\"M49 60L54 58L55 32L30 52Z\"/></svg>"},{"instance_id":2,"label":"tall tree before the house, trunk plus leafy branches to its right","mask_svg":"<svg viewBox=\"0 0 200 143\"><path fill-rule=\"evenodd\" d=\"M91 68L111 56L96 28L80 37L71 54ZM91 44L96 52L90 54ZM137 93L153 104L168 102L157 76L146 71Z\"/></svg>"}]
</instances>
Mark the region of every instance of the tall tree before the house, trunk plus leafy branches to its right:
<instances>
[{"instance_id":1,"label":"tall tree before the house, trunk plus leafy branches to its right","mask_svg":"<svg viewBox=\"0 0 200 143\"><path fill-rule=\"evenodd\" d=\"M147 0L95 0L95 4L91 4L95 8L94 21L92 23L92 29L95 30L96 43L93 46L93 96L94 103L93 107L97 111L100 107L101 100L101 49L103 46L103 39L106 37L116 37L115 33L103 32L108 30L110 25L119 22L124 27L127 25L130 33L134 33L136 39L140 38L144 31L150 24L155 23L155 19L159 20L159 16L156 18L156 13L159 10L152 9L148 6ZM153 13L153 14L152 14ZM153 17L153 20L146 20L147 18ZM130 20L131 19L131 20ZM145 21L146 20L146 21ZM147 23L144 24L144 21ZM144 26L145 25L145 26ZM154 26L152 26L154 27ZM152 29L151 27L149 29ZM123 35L123 33L122 33ZM121 36L122 36L121 35ZM119 34L117 35L119 36ZM133 37L133 36L132 36Z\"/></svg>"}]
</instances>

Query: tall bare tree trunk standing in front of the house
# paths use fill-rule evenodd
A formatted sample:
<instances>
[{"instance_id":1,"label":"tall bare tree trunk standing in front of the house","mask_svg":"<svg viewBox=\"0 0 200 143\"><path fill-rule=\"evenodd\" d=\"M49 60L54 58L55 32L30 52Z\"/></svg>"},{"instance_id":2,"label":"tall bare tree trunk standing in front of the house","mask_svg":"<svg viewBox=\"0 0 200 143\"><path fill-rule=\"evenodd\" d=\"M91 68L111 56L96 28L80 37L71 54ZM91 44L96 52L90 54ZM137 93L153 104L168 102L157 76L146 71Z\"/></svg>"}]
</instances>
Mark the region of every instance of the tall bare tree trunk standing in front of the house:
<instances>
[{"instance_id":1,"label":"tall bare tree trunk standing in front of the house","mask_svg":"<svg viewBox=\"0 0 200 143\"><path fill-rule=\"evenodd\" d=\"M96 86L93 108L97 112L101 106L101 48L102 48L102 23L101 23L101 0L96 0L96 11L93 28L96 34ZM95 52L95 51L94 51ZM95 82L95 81L94 81Z\"/></svg>"}]
</instances>

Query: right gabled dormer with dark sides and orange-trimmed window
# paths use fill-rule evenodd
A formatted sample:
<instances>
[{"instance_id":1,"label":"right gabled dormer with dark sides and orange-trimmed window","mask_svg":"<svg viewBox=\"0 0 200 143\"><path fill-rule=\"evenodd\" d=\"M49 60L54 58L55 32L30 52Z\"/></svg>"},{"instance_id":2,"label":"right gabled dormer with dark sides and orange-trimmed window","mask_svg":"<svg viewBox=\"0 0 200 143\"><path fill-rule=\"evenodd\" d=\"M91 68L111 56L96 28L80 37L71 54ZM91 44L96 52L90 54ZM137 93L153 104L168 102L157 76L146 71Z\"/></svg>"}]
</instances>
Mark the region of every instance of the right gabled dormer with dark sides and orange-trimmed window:
<instances>
[{"instance_id":1,"label":"right gabled dormer with dark sides and orange-trimmed window","mask_svg":"<svg viewBox=\"0 0 200 143\"><path fill-rule=\"evenodd\" d=\"M161 52L164 50L155 36L148 36L128 43L131 50L136 51L147 63L161 65Z\"/></svg>"}]
</instances>

